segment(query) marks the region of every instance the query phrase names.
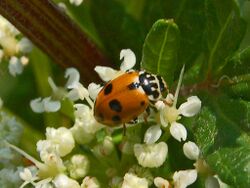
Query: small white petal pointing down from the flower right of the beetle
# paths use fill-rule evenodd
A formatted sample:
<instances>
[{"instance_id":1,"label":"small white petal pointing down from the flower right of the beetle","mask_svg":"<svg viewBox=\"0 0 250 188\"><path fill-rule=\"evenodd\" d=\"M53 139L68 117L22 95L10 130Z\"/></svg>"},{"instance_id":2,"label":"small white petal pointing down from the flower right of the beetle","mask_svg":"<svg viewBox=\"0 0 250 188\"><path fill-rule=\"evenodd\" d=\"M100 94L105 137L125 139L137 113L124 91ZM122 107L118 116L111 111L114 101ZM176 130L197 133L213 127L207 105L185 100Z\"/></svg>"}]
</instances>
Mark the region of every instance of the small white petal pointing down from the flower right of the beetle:
<instances>
[{"instance_id":1,"label":"small white petal pointing down from the flower right of the beetle","mask_svg":"<svg viewBox=\"0 0 250 188\"><path fill-rule=\"evenodd\" d=\"M177 122L171 123L170 133L179 142L181 142L182 140L185 141L187 139L187 130L180 123Z\"/></svg>"}]
</instances>

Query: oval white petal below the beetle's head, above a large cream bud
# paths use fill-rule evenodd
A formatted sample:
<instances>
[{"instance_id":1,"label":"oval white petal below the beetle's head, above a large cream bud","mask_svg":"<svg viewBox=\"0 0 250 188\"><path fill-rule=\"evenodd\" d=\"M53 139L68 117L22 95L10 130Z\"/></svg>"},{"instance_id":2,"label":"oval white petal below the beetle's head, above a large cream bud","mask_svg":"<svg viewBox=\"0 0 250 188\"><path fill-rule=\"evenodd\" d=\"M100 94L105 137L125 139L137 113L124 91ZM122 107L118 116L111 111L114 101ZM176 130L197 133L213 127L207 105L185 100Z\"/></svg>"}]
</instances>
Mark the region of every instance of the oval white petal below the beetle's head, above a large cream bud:
<instances>
[{"instance_id":1,"label":"oval white petal below the beetle's head, above a large cream bud","mask_svg":"<svg viewBox=\"0 0 250 188\"><path fill-rule=\"evenodd\" d=\"M146 144L153 144L161 137L162 130L159 125L151 126L147 129L144 135L144 142Z\"/></svg>"}]
</instances>

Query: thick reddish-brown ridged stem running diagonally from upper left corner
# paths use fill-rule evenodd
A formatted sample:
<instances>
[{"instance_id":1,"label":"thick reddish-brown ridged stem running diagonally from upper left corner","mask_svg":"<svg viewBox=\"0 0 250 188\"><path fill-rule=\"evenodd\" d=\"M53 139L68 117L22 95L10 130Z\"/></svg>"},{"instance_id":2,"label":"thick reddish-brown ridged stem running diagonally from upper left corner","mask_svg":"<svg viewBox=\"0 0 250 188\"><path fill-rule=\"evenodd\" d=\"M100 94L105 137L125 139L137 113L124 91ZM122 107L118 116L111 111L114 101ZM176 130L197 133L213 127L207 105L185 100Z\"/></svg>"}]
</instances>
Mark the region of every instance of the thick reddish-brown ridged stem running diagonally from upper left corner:
<instances>
[{"instance_id":1,"label":"thick reddish-brown ridged stem running diagonally from upper left corner","mask_svg":"<svg viewBox=\"0 0 250 188\"><path fill-rule=\"evenodd\" d=\"M100 49L50 0L1 0L0 14L56 63L77 68L87 83L98 80L96 65L110 66Z\"/></svg>"}]
</instances>

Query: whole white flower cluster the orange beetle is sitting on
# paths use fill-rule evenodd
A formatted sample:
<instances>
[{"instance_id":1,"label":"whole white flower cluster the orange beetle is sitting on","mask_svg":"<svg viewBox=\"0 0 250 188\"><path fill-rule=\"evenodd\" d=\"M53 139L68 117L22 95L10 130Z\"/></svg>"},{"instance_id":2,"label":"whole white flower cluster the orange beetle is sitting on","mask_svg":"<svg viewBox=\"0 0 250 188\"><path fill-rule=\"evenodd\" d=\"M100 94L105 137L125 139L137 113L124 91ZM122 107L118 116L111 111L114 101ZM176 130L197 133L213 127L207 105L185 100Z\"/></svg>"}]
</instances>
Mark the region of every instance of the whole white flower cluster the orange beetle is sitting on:
<instances>
[{"instance_id":1,"label":"whole white flower cluster the orange beetle is sitting on","mask_svg":"<svg viewBox=\"0 0 250 188\"><path fill-rule=\"evenodd\" d=\"M102 80L107 82L131 70L136 63L135 54L130 49L122 50L120 59L123 60L120 70L97 66L95 71ZM154 120L155 124L146 130L143 143L140 142L141 138L135 138L131 143L124 142L120 149L124 155L134 155L138 162L136 165L144 171L146 171L145 169L158 168L167 160L169 152L166 140L162 139L162 135L171 135L178 142L183 143L183 153L188 159L195 161L194 168L180 169L174 172L172 177L153 177L152 174L146 175L146 172L131 171L133 167L126 167L129 171L122 178L117 176L119 169L117 170L113 166L105 171L106 175L111 178L111 187L147 188L154 184L159 188L185 188L196 181L198 173L206 168L208 169L204 160L200 158L198 146L194 142L186 141L187 130L179 122L182 117L193 117L199 113L201 108L201 101L197 96L188 97L186 102L178 108L176 107L183 72L184 68L180 74L175 95L168 94L166 98L156 103L157 112L150 114L149 117ZM10 146L35 164L35 168L32 170L25 168L20 173L20 177L24 180L21 187L27 184L32 184L35 187L100 187L96 177L88 176L91 169L88 157L76 151L72 152L77 150L75 149L77 148L75 147L76 144L82 146L88 146L89 144L90 152L101 163L107 162L107 164L119 165L118 157L116 156L117 161L115 161L112 156L116 147L110 129L105 130L106 135L101 142L95 140L97 138L96 133L105 128L104 125L95 120L93 114L94 101L101 86L91 83L88 88L85 88L80 83L79 72L74 68L66 70L65 78L68 78L68 80L64 87L57 87L53 80L49 78L53 96L60 96L59 98L53 100L52 97L38 98L32 100L30 105L35 112L55 112L60 109L60 101L68 98L74 104L74 125L69 129L64 127L46 129L46 139L37 143L37 151L42 162L35 160L15 146ZM78 101L81 103L78 103ZM217 185L219 185L218 180L211 175L207 175L206 187L216 187Z\"/></svg>"}]
</instances>

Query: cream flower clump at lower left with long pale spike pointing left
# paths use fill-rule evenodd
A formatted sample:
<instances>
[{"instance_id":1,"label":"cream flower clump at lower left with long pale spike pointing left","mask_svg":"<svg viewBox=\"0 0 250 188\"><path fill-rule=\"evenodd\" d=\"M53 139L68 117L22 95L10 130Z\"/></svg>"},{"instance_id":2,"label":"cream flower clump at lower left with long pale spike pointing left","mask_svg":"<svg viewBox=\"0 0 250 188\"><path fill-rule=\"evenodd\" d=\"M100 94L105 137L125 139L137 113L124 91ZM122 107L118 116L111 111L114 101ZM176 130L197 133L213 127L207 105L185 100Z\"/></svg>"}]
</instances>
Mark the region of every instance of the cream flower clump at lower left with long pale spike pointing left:
<instances>
[{"instance_id":1,"label":"cream flower clump at lower left with long pale spike pointing left","mask_svg":"<svg viewBox=\"0 0 250 188\"><path fill-rule=\"evenodd\" d=\"M68 160L63 160L63 157L70 154L75 147L75 141L69 129L64 127L46 129L46 140L40 140L37 143L37 151L42 162L13 145L9 144L9 146L35 164L24 168L20 173L24 181L21 188L27 184L32 184L36 188L100 187L96 178L87 176L89 170L87 156L75 154ZM82 180L82 183L79 184L77 180Z\"/></svg>"}]
</instances>

